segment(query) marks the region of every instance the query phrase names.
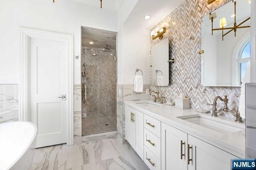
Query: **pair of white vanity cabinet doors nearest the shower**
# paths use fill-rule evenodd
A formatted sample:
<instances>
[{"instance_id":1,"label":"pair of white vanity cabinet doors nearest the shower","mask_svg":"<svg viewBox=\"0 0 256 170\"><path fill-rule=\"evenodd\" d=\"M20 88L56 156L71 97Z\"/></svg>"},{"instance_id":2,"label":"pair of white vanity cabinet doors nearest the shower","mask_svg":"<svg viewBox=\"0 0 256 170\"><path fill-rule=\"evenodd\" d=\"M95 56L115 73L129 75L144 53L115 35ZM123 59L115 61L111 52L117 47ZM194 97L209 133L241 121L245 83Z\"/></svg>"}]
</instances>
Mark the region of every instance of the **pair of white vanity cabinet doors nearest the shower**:
<instances>
[{"instance_id":1,"label":"pair of white vanity cabinet doors nearest the shower","mask_svg":"<svg viewBox=\"0 0 256 170\"><path fill-rule=\"evenodd\" d=\"M126 106L126 140L137 154L144 159L144 114Z\"/></svg>"}]
</instances>

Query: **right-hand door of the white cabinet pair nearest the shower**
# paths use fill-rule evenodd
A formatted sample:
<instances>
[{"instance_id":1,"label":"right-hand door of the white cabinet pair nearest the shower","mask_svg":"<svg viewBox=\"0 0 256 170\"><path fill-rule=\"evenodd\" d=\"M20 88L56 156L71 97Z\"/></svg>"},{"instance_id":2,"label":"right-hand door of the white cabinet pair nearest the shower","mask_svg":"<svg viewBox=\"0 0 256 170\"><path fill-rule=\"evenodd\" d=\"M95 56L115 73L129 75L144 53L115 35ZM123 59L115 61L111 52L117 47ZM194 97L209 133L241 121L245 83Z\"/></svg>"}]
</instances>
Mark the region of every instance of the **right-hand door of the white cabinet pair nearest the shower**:
<instances>
[{"instance_id":1,"label":"right-hand door of the white cabinet pair nearest the shower","mask_svg":"<svg viewBox=\"0 0 256 170\"><path fill-rule=\"evenodd\" d=\"M137 154L140 156L140 158L142 158L142 160L144 159L144 125L143 125L143 113L139 112L139 111L134 111L134 122L135 122L135 130L136 130L136 143L135 143L135 151L137 152Z\"/></svg>"}]
</instances>

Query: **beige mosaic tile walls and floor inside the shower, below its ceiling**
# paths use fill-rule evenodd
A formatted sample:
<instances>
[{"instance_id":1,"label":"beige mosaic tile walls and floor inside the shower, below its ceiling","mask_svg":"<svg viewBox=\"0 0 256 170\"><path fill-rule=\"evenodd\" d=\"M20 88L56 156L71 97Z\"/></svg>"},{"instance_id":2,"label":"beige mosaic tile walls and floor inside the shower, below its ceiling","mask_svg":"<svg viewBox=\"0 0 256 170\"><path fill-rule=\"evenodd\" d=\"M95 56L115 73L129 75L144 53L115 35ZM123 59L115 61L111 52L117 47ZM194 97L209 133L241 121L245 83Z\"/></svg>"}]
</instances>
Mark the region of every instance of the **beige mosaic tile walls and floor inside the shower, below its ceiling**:
<instances>
[{"instance_id":1,"label":"beige mosaic tile walls and floor inside the shower, below its ceiling","mask_svg":"<svg viewBox=\"0 0 256 170\"><path fill-rule=\"evenodd\" d=\"M86 100L82 102L82 135L116 131L116 61L110 53L94 49L86 57ZM112 51L115 55L115 51ZM82 72L85 55L82 55ZM82 96L83 98L83 96Z\"/></svg>"}]
</instances>

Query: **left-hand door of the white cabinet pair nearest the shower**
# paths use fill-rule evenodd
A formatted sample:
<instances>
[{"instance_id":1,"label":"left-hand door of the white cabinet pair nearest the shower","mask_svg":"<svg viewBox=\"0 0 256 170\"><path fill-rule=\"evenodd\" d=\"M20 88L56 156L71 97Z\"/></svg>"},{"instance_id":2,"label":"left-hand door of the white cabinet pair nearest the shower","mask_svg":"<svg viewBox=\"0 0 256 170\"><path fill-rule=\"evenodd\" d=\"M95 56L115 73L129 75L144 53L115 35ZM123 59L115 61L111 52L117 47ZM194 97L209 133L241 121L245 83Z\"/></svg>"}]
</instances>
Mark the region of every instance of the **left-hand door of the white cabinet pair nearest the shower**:
<instances>
[{"instance_id":1,"label":"left-hand door of the white cabinet pair nearest the shower","mask_svg":"<svg viewBox=\"0 0 256 170\"><path fill-rule=\"evenodd\" d=\"M135 122L133 121L133 109L126 106L126 140L135 147Z\"/></svg>"}]
</instances>

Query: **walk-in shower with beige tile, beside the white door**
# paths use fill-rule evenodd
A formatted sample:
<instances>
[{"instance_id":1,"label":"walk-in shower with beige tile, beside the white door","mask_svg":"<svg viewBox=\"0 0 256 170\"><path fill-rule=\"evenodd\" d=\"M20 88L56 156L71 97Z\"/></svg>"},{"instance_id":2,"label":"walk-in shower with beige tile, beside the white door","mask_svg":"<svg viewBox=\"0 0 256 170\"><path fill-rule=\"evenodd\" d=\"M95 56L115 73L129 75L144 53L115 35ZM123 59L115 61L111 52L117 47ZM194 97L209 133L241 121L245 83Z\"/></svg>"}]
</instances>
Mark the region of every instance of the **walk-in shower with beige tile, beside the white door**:
<instances>
[{"instance_id":1,"label":"walk-in shower with beige tile, beside the white door","mask_svg":"<svg viewBox=\"0 0 256 170\"><path fill-rule=\"evenodd\" d=\"M81 61L82 135L116 131L116 33L82 27Z\"/></svg>"}]
</instances>

